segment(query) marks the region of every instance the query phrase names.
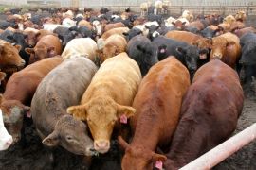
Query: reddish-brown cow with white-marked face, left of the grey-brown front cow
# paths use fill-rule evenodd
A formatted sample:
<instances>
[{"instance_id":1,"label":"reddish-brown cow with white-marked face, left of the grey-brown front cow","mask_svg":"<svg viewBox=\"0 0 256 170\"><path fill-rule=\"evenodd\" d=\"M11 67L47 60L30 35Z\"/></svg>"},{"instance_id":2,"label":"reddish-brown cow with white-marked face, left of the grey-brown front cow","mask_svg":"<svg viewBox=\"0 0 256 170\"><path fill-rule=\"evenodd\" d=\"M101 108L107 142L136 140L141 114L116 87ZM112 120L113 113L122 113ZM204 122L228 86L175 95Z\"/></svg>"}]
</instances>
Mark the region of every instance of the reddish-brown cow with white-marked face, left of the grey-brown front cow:
<instances>
[{"instance_id":1,"label":"reddish-brown cow with white-marked face, left of the grey-brown front cow","mask_svg":"<svg viewBox=\"0 0 256 170\"><path fill-rule=\"evenodd\" d=\"M21 139L24 117L30 117L29 106L37 86L62 61L57 57L43 59L10 76L6 91L0 96L0 106L13 143Z\"/></svg>"}]
</instances>

